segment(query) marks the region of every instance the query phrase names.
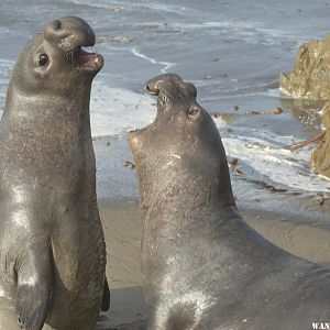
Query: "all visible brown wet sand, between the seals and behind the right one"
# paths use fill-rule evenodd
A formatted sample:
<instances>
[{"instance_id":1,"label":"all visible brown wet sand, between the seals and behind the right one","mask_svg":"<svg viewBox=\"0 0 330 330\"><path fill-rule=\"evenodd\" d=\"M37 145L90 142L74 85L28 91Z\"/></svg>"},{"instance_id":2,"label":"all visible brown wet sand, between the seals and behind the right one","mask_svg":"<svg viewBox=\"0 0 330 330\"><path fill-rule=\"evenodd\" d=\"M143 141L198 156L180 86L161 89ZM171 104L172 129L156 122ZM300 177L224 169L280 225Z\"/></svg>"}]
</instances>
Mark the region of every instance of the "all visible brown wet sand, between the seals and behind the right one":
<instances>
[{"instance_id":1,"label":"all visible brown wet sand, between the seals and behind the right one","mask_svg":"<svg viewBox=\"0 0 330 330\"><path fill-rule=\"evenodd\" d=\"M97 330L146 329L140 272L141 219L138 200L99 201L105 228L111 308ZM243 218L283 249L316 263L330 263L330 222L327 219L285 216L240 207Z\"/></svg>"}]
</instances>

